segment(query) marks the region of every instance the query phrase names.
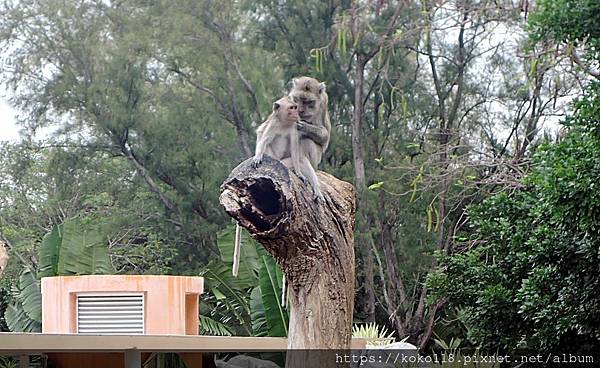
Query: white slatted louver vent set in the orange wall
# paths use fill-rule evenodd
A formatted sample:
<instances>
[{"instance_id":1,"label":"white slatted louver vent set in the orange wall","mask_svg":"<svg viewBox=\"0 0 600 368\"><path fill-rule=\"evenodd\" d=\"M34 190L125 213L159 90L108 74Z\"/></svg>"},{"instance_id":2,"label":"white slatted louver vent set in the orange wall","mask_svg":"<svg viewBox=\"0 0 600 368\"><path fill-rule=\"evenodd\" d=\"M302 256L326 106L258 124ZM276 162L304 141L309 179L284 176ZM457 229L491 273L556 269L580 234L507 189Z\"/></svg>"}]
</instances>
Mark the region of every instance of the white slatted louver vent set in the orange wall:
<instances>
[{"instance_id":1,"label":"white slatted louver vent set in the orange wall","mask_svg":"<svg viewBox=\"0 0 600 368\"><path fill-rule=\"evenodd\" d=\"M144 295L78 295L77 333L144 334Z\"/></svg>"}]
</instances>

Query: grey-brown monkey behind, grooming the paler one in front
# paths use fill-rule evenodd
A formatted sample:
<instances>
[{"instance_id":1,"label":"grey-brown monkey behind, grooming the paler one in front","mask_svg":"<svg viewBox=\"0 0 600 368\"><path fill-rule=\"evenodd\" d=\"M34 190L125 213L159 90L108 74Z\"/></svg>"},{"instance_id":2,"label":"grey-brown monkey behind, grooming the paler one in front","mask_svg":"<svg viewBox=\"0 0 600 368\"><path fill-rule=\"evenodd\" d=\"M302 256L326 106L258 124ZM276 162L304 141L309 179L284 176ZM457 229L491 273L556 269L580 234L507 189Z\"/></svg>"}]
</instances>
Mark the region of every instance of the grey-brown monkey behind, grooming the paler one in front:
<instances>
[{"instance_id":1,"label":"grey-brown monkey behind, grooming the paler one in front","mask_svg":"<svg viewBox=\"0 0 600 368\"><path fill-rule=\"evenodd\" d=\"M325 83L311 77L294 78L289 95L298 104L300 113L301 121L296 123L300 132L300 150L317 170L331 132Z\"/></svg>"}]
</instances>

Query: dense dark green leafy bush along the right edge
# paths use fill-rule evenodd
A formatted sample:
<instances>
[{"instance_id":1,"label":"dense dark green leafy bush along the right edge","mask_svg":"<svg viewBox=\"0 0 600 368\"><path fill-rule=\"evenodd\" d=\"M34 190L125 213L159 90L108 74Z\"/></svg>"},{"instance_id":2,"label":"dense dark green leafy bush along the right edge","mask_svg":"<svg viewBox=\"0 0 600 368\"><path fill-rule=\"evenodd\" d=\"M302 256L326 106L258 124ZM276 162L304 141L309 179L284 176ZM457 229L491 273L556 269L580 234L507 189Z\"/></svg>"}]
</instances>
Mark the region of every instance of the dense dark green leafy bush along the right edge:
<instances>
[{"instance_id":1,"label":"dense dark green leafy bush along the right edge","mask_svg":"<svg viewBox=\"0 0 600 368\"><path fill-rule=\"evenodd\" d=\"M471 209L472 248L441 256L429 279L438 297L465 308L468 336L483 348L597 347L600 115L589 101L560 143L540 148L525 189Z\"/></svg>"}]
</instances>

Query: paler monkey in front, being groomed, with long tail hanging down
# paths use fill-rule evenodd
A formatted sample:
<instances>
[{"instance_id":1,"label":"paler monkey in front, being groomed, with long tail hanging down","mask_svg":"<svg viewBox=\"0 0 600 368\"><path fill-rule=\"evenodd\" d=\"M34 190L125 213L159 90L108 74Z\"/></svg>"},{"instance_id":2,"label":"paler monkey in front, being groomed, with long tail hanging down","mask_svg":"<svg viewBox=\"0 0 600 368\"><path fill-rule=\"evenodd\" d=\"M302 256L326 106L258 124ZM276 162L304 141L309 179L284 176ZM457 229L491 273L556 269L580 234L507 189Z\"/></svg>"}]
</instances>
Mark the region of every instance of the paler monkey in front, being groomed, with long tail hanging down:
<instances>
[{"instance_id":1,"label":"paler monkey in front, being groomed, with long tail hanging down","mask_svg":"<svg viewBox=\"0 0 600 368\"><path fill-rule=\"evenodd\" d=\"M298 105L289 96L275 101L273 112L256 130L256 151L251 165L254 168L258 167L265 154L280 160L288 169L294 170L303 182L308 179L313 189L314 199L323 202L324 198L319 190L315 169L300 145L300 136L296 128L299 118ZM233 252L234 276L238 274L240 247L241 228L238 224Z\"/></svg>"}]
</instances>

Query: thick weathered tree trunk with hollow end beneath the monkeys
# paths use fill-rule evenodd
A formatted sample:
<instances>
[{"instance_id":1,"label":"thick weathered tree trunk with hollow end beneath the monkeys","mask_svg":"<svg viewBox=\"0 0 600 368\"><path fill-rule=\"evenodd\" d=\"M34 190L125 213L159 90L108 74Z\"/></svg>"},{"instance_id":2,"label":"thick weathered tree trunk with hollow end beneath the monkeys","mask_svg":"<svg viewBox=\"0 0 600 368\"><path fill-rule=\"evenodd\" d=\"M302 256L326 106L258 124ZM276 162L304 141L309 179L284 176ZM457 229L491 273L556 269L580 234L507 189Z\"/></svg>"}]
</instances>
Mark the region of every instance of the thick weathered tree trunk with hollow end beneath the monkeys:
<instances>
[{"instance_id":1,"label":"thick weathered tree trunk with hollow end beneath the monkeys","mask_svg":"<svg viewBox=\"0 0 600 368\"><path fill-rule=\"evenodd\" d=\"M325 203L317 204L310 186L290 175L279 161L265 157L258 169L249 163L240 164L223 183L220 202L286 275L288 349L349 349L354 307L353 186L318 172ZM293 364L288 359L286 366L326 366L306 360Z\"/></svg>"}]
</instances>

